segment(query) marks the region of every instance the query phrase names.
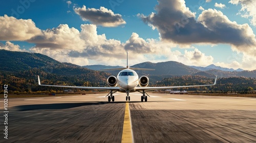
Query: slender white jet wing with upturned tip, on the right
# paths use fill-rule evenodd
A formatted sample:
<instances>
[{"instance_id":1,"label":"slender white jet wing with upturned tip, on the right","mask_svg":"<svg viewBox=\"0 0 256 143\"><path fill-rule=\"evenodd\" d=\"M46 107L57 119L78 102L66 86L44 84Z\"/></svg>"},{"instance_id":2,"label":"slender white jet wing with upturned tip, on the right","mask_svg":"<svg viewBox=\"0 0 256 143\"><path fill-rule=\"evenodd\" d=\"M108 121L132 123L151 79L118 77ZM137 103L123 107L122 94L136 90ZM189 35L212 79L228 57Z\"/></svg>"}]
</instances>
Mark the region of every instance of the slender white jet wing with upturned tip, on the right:
<instances>
[{"instance_id":1,"label":"slender white jet wing with upturned tip, on the right","mask_svg":"<svg viewBox=\"0 0 256 143\"><path fill-rule=\"evenodd\" d=\"M171 89L171 88L183 88L183 87L199 87L199 86L212 86L215 85L217 81L217 76L215 78L214 84L209 85L189 85L189 86L166 86L166 87L135 87L135 90L157 90L157 89Z\"/></svg>"}]
</instances>

